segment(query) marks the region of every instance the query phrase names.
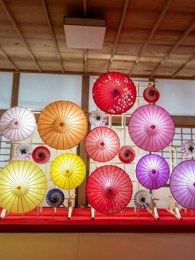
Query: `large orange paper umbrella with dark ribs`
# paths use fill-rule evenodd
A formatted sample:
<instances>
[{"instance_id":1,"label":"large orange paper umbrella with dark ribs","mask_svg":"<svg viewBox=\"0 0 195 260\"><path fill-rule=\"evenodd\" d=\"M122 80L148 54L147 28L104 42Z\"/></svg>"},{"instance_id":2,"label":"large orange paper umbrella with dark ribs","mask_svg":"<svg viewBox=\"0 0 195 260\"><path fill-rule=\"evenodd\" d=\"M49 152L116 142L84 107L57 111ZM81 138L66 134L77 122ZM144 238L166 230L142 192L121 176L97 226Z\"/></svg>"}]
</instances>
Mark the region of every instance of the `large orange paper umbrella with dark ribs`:
<instances>
[{"instance_id":1,"label":"large orange paper umbrella with dark ribs","mask_svg":"<svg viewBox=\"0 0 195 260\"><path fill-rule=\"evenodd\" d=\"M48 146L66 150L79 144L87 133L87 118L83 110L69 101L57 101L41 112L37 129Z\"/></svg>"}]
</instances>

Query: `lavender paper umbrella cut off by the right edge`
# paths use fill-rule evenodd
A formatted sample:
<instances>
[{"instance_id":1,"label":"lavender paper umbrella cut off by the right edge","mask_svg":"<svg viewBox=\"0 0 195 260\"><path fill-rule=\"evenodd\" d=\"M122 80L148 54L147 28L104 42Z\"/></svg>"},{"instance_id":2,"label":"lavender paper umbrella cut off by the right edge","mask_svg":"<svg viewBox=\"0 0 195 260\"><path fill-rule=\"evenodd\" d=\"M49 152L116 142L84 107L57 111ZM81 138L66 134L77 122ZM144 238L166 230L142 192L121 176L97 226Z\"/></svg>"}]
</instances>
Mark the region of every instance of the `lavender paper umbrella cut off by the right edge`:
<instances>
[{"instance_id":1,"label":"lavender paper umbrella cut off by the right edge","mask_svg":"<svg viewBox=\"0 0 195 260\"><path fill-rule=\"evenodd\" d=\"M179 163L170 178L174 199L184 208L195 209L195 161Z\"/></svg>"}]
</instances>

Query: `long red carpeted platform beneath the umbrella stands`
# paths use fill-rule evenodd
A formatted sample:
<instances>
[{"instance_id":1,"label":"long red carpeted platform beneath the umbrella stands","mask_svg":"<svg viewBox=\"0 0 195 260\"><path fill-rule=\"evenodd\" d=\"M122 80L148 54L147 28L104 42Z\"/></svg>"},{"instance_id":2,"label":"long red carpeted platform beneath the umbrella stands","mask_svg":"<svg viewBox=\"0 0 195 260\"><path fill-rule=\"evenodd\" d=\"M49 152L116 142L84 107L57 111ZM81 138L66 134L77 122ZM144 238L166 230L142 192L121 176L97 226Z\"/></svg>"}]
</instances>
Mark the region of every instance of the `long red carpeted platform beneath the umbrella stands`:
<instances>
[{"instance_id":1,"label":"long red carpeted platform beneath the umbrella stands","mask_svg":"<svg viewBox=\"0 0 195 260\"><path fill-rule=\"evenodd\" d=\"M140 210L140 217L133 208L126 208L125 217L122 213L107 216L96 212L94 220L90 212L90 208L74 208L70 220L64 208L57 208L54 217L52 208L43 208L38 217L37 209L24 216L9 213L0 220L0 232L195 232L195 214L190 217L190 210L180 212L183 220L165 209L158 209L160 220L146 209Z\"/></svg>"}]
</instances>

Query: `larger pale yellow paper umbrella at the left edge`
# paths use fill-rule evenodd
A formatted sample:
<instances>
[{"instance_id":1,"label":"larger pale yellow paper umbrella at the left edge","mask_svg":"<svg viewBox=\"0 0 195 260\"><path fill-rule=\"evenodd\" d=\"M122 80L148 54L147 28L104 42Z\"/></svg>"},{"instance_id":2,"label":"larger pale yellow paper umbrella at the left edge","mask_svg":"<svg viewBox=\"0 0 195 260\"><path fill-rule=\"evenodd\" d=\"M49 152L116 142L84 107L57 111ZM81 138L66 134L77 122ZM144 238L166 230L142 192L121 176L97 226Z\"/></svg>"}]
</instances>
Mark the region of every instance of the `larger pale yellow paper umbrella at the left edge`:
<instances>
[{"instance_id":1,"label":"larger pale yellow paper umbrella at the left edge","mask_svg":"<svg viewBox=\"0 0 195 260\"><path fill-rule=\"evenodd\" d=\"M12 213L25 213L36 208L47 191L47 180L34 163L17 161L0 171L0 205Z\"/></svg>"}]
</instances>

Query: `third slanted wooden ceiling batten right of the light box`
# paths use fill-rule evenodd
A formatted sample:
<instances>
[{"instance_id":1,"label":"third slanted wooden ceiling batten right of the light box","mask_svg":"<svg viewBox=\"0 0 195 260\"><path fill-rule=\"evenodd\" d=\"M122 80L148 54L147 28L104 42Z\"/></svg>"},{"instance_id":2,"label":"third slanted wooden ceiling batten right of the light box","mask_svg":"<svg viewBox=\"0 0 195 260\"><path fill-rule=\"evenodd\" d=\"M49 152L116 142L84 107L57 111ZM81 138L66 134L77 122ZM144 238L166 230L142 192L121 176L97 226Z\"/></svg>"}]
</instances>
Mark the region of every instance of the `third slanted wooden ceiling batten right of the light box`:
<instances>
[{"instance_id":1,"label":"third slanted wooden ceiling batten right of the light box","mask_svg":"<svg viewBox=\"0 0 195 260\"><path fill-rule=\"evenodd\" d=\"M161 60L160 64L153 70L150 77L153 77L154 74L157 72L157 70L162 66L162 64L170 57L172 52L175 51L175 49L179 46L179 44L183 41L183 39L189 34L189 32L193 29L195 26L195 20L190 24L190 26L185 30L185 32L182 34L182 36L176 41L176 43L173 45L173 47L169 50L167 55Z\"/></svg>"}]
</instances>

